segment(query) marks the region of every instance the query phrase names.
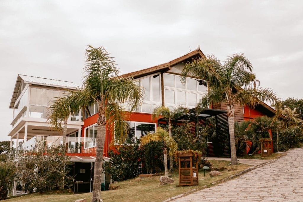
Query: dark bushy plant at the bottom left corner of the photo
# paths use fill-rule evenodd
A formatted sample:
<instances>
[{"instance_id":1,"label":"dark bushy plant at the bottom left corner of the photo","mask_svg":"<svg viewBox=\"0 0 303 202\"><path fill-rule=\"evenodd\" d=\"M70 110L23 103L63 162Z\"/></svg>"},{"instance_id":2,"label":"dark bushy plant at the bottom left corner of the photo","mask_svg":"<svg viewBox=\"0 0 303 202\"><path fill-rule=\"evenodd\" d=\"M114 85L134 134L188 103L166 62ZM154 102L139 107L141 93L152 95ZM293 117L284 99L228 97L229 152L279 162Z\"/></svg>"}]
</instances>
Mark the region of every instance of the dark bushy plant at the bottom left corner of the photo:
<instances>
[{"instance_id":1,"label":"dark bushy plant at the bottom left corner of the photo","mask_svg":"<svg viewBox=\"0 0 303 202\"><path fill-rule=\"evenodd\" d=\"M15 172L15 163L10 161L0 163L0 200L6 199L7 188L11 187Z\"/></svg>"}]
</instances>

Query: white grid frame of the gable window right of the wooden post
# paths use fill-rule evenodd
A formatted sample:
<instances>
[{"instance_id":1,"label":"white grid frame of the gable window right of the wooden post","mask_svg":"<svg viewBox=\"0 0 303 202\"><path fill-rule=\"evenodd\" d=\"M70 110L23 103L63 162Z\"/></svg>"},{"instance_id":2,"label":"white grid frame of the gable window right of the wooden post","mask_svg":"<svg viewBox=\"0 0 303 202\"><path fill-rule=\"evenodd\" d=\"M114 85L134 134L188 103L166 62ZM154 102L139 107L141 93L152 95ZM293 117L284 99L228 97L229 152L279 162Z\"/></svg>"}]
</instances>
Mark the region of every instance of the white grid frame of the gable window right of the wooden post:
<instances>
[{"instance_id":1,"label":"white grid frame of the gable window right of the wooden post","mask_svg":"<svg viewBox=\"0 0 303 202\"><path fill-rule=\"evenodd\" d=\"M176 75L169 74L169 73L164 73L164 75L165 74L175 76L174 78L175 78L175 86L176 86ZM177 76L180 76L180 75L177 75ZM186 78L191 78L191 77L186 77ZM201 95L201 97L202 97L204 94L207 93L207 90L205 92L198 91L198 80L201 80L201 79L197 79L197 78L191 78L191 79L197 80L197 83L196 83L197 84L197 91L188 90L187 89L187 83L185 84L185 89L183 89L183 88L176 88L176 87L170 87L170 86L165 86L164 85L164 103L165 103L165 106L173 108L173 107L176 107L176 106L179 105L179 104L177 104L177 100L178 100L178 98L177 98L177 91L179 91L179 92L185 92L186 105L184 107L187 107L187 108L195 108L196 107L196 106L188 104L188 93L196 94L196 100L197 100L197 103L198 103L198 101L200 101L199 95ZM163 82L163 83L165 83L165 82ZM174 103L167 103L165 101L165 89L174 91L174 94L175 94L175 104ZM206 83L206 89L208 89L208 83Z\"/></svg>"}]
</instances>

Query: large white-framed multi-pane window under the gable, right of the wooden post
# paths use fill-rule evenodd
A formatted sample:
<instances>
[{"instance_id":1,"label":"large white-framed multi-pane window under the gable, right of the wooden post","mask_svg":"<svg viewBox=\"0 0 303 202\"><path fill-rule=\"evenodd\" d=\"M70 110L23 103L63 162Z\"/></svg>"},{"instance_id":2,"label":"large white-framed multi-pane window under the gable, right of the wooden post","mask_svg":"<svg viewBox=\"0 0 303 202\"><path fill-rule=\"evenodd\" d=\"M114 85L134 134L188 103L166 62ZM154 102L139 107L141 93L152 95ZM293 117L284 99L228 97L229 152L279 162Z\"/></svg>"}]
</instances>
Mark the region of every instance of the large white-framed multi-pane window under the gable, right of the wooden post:
<instances>
[{"instance_id":1,"label":"large white-framed multi-pane window under the gable, right of the wooden post","mask_svg":"<svg viewBox=\"0 0 303 202\"><path fill-rule=\"evenodd\" d=\"M206 81L195 78L187 78L185 84L181 82L181 76L164 74L165 106L175 107L182 104L193 108L207 92Z\"/></svg>"}]
</instances>

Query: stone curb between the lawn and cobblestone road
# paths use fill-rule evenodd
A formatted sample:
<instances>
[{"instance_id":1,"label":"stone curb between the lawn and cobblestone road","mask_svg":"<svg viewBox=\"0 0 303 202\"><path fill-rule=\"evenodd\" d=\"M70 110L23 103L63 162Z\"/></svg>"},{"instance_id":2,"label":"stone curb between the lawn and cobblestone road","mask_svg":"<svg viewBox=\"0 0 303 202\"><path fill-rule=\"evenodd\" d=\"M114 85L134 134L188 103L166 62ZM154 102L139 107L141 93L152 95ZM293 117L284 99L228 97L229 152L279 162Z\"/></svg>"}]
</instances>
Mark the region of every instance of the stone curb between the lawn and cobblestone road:
<instances>
[{"instance_id":1,"label":"stone curb between the lawn and cobblestone road","mask_svg":"<svg viewBox=\"0 0 303 202\"><path fill-rule=\"evenodd\" d=\"M265 166L265 165L267 165L267 164L271 164L271 163L277 161L279 158L284 157L285 155L286 155L286 154L281 155L281 156L279 156L278 158L273 159L273 160L268 161L268 162L265 162L265 163L263 163L263 164L260 164L260 165L257 165L257 166L252 166L252 167L246 168L245 170L240 171L240 172L238 172L238 173L236 173L236 174L233 174L233 175L231 175L231 176L229 176L229 177L225 177L225 178L223 178L223 179L221 179L221 180L216 180L216 181L214 181L214 182L211 183L211 184L218 184L218 183L220 183L220 182L225 182L225 181L227 181L227 180L229 180L229 179L232 179L232 178L234 178L234 177L237 177L237 176L239 176L239 175L243 175L243 174L245 174L245 173L247 173L247 172L249 172L249 171L255 170L256 168L260 168L260 167L263 167L263 166ZM174 196L174 197L168 198L168 199L164 200L163 202L168 202L168 201L174 200L174 199L176 199L176 198L181 198L182 196L191 194L191 193L196 192L196 191L198 191L198 190L202 190L202 189L204 189L204 188L206 188L206 187L207 187L207 185L204 185L202 188L198 188L198 189L196 188L196 189L189 190L189 191L187 191L187 192L185 192L185 193L183 193L183 194L180 194L180 195L178 195L178 196Z\"/></svg>"}]
</instances>

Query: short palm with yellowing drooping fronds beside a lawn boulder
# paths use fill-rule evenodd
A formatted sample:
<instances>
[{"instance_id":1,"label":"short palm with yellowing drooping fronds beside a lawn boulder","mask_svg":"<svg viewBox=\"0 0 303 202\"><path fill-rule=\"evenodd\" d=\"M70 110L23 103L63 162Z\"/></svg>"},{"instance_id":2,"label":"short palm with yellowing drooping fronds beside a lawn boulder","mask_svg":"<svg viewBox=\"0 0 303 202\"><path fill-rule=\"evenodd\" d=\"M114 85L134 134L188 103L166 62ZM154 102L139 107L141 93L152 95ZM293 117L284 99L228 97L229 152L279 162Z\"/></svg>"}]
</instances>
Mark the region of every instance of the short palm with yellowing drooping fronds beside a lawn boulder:
<instances>
[{"instance_id":1,"label":"short palm with yellowing drooping fronds beside a lawn boulder","mask_svg":"<svg viewBox=\"0 0 303 202\"><path fill-rule=\"evenodd\" d=\"M174 155L174 153L178 149L178 144L174 140L174 138L170 137L168 132L165 131L161 127L157 127L157 131L155 133L147 134L140 138L141 145L148 144L152 141L156 142L163 142L163 154L164 154L164 174L165 177L168 177L168 171L167 171L167 149L169 156Z\"/></svg>"}]
</instances>

